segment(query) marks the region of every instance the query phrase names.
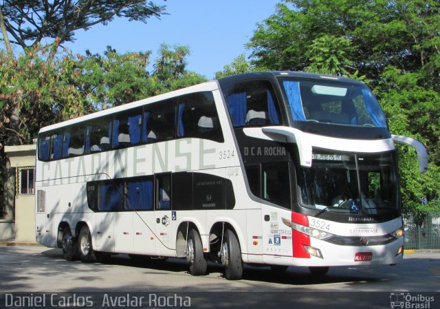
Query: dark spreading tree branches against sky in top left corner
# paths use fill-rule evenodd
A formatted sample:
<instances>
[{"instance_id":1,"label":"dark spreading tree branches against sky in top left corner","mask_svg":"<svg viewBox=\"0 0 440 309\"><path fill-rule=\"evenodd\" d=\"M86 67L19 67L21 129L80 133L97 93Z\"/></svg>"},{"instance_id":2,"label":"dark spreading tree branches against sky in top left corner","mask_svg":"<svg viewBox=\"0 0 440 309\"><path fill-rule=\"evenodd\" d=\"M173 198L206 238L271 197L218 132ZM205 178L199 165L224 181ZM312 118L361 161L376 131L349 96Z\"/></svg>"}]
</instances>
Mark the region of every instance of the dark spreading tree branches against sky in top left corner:
<instances>
[{"instance_id":1,"label":"dark spreading tree branches against sky in top left corner","mask_svg":"<svg viewBox=\"0 0 440 309\"><path fill-rule=\"evenodd\" d=\"M59 45L74 41L76 30L88 30L98 23L107 25L115 17L146 23L164 11L165 6L145 0L4 0L0 28L9 56L10 43L24 50L40 44L42 39L54 40L53 56Z\"/></svg>"}]
</instances>

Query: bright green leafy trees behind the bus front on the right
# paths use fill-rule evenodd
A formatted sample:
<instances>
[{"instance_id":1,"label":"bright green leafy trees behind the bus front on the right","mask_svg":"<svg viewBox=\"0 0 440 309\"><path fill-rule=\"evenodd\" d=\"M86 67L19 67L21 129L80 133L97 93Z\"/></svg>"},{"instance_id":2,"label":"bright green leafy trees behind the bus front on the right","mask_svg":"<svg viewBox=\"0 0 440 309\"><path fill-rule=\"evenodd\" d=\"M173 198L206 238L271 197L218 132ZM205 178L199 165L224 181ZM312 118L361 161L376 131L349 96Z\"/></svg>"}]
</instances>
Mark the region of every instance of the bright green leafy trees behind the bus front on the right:
<instances>
[{"instance_id":1,"label":"bright green leafy trees behind the bus front on the right","mask_svg":"<svg viewBox=\"0 0 440 309\"><path fill-rule=\"evenodd\" d=\"M437 0L284 0L257 25L250 65L344 75L369 85L393 134L424 142L429 171L399 147L405 209L439 209L440 3ZM421 204L426 197L428 203Z\"/></svg>"}]
</instances>

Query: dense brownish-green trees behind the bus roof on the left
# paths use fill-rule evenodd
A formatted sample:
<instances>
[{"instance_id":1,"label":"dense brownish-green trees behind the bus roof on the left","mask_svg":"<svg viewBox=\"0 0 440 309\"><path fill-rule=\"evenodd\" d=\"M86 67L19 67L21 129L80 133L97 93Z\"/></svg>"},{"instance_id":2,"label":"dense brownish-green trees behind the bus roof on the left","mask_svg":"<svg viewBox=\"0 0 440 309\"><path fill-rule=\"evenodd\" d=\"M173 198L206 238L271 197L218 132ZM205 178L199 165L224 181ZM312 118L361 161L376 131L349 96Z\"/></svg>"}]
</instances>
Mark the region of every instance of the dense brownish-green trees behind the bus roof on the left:
<instances>
[{"instance_id":1,"label":"dense brownish-green trees behind the bus roof on the left","mask_svg":"<svg viewBox=\"0 0 440 309\"><path fill-rule=\"evenodd\" d=\"M120 54L110 46L102 55L65 51L50 62L48 46L27 48L12 59L0 50L0 193L4 145L31 143L45 125L206 81L186 70L188 52L162 45L155 70L149 71L151 52ZM16 112L20 117L12 126Z\"/></svg>"}]
</instances>

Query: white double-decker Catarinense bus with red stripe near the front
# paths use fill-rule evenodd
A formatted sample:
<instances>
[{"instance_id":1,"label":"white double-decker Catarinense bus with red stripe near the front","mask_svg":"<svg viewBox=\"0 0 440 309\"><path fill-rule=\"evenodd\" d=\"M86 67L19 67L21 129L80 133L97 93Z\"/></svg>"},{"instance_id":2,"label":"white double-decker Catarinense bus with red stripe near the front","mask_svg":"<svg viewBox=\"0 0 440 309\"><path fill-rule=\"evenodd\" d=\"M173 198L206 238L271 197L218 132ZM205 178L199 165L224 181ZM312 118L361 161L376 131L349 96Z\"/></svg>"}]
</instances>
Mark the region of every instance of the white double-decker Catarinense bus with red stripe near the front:
<instances>
[{"instance_id":1,"label":"white double-decker Catarinense bus with red stripe near the front","mask_svg":"<svg viewBox=\"0 0 440 309\"><path fill-rule=\"evenodd\" d=\"M240 279L396 264L399 177L386 119L363 83L294 72L210 81L39 132L36 240L67 260L114 253L208 258Z\"/></svg>"}]
</instances>

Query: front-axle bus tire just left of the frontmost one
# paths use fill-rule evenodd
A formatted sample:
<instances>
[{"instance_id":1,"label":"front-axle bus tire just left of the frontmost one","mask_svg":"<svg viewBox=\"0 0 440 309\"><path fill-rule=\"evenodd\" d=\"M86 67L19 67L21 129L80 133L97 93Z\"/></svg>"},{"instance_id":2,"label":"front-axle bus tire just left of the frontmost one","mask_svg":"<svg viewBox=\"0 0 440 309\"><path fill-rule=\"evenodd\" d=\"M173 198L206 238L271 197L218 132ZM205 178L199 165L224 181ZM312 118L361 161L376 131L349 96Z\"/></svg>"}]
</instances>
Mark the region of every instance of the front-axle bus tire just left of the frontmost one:
<instances>
[{"instance_id":1,"label":"front-axle bus tire just left of the frontmost one","mask_svg":"<svg viewBox=\"0 0 440 309\"><path fill-rule=\"evenodd\" d=\"M191 229L186 241L186 260L190 264L191 275L206 275L208 260L203 254L200 235L195 229Z\"/></svg>"}]
</instances>

